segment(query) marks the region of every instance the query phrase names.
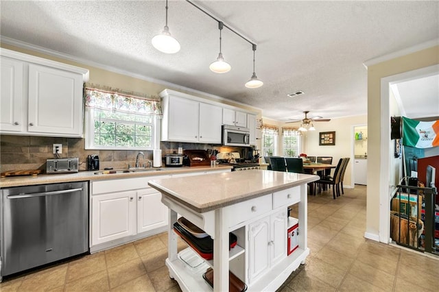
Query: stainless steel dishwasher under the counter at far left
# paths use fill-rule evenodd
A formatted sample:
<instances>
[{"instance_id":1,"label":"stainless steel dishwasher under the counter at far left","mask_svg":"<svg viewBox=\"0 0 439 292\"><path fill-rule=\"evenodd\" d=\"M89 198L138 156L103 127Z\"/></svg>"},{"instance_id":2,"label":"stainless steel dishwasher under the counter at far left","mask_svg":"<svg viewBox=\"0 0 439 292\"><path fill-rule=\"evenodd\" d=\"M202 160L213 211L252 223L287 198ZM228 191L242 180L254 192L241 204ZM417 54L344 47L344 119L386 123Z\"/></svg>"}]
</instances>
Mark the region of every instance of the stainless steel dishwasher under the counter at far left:
<instances>
[{"instance_id":1,"label":"stainless steel dishwasher under the counter at far left","mask_svg":"<svg viewBox=\"0 0 439 292\"><path fill-rule=\"evenodd\" d=\"M0 207L0 277L88 252L88 182L3 188Z\"/></svg>"}]
</instances>

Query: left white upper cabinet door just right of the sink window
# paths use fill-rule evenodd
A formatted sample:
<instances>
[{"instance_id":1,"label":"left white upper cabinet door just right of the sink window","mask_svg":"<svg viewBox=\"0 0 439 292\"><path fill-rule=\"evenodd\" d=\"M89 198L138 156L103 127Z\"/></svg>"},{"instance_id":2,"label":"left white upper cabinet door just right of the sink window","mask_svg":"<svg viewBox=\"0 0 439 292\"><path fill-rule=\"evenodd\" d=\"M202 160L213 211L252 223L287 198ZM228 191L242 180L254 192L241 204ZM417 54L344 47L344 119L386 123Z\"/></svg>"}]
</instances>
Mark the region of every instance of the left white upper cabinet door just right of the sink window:
<instances>
[{"instance_id":1,"label":"left white upper cabinet door just right of the sink window","mask_svg":"<svg viewBox=\"0 0 439 292\"><path fill-rule=\"evenodd\" d=\"M198 142L198 110L198 101L169 97L169 141Z\"/></svg>"}]
</instances>

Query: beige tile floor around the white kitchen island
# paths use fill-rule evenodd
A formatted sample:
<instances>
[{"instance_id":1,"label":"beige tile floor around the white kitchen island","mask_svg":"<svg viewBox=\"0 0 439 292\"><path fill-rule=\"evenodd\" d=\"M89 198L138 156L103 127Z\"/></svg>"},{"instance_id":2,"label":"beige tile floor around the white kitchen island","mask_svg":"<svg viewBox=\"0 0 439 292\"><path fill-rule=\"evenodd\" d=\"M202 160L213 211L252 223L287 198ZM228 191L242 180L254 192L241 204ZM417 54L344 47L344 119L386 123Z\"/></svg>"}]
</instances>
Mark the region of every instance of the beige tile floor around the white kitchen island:
<instances>
[{"instance_id":1,"label":"beige tile floor around the white kitchen island","mask_svg":"<svg viewBox=\"0 0 439 292\"><path fill-rule=\"evenodd\" d=\"M366 187L309 197L308 223L307 264L279 291L438 291L439 259L364 239ZM0 291L180 291L166 257L163 233L6 278Z\"/></svg>"}]
</instances>

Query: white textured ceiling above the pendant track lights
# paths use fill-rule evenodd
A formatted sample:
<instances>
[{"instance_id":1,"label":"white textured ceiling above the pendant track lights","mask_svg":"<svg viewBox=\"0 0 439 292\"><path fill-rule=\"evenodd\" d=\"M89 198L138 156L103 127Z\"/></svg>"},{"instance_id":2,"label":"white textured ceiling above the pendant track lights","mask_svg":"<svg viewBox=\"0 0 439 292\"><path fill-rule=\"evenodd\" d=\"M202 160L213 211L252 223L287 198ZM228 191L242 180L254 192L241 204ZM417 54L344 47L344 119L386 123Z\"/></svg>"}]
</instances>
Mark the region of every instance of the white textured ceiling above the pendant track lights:
<instances>
[{"instance_id":1,"label":"white textured ceiling above the pendant track lights","mask_svg":"<svg viewBox=\"0 0 439 292\"><path fill-rule=\"evenodd\" d=\"M2 0L0 33L3 41L239 101L281 121L302 119L304 110L324 118L366 114L363 62L439 38L438 1L193 2L257 43L264 86L244 86L252 47L228 29L222 53L232 70L209 71L219 52L217 22L186 1L169 1L169 30L182 47L173 55L151 45L165 25L165 1ZM287 97L296 90L305 94Z\"/></svg>"}]
</instances>

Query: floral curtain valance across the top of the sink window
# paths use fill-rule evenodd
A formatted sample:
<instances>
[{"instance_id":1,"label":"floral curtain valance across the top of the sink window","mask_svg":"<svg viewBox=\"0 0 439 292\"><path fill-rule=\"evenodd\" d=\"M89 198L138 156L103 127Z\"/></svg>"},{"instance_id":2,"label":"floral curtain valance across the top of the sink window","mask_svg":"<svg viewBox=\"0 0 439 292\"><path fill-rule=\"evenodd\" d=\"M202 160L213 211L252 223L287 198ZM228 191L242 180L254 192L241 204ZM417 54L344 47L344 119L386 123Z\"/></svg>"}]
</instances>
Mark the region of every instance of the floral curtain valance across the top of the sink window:
<instances>
[{"instance_id":1,"label":"floral curtain valance across the top of the sink window","mask_svg":"<svg viewBox=\"0 0 439 292\"><path fill-rule=\"evenodd\" d=\"M126 93L118 89L86 84L85 106L116 112L135 112L143 115L161 115L161 101L158 97Z\"/></svg>"}]
</instances>

